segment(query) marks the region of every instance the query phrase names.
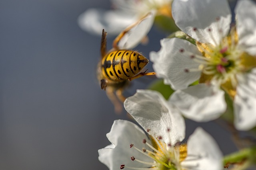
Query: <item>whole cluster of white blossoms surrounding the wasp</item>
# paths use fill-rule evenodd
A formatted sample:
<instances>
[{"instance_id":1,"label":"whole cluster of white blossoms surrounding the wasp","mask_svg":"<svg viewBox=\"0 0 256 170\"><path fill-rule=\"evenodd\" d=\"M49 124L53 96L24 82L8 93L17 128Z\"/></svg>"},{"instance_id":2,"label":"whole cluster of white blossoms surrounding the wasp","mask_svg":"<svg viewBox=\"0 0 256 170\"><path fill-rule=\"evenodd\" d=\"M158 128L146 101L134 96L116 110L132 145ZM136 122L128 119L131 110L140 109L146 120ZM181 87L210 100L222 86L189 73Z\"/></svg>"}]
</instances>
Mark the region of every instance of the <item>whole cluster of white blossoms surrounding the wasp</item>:
<instances>
[{"instance_id":1,"label":"whole cluster of white blossoms surrounding the wasp","mask_svg":"<svg viewBox=\"0 0 256 170\"><path fill-rule=\"evenodd\" d=\"M219 118L227 109L226 94L232 100L234 127L256 127L256 3L238 0L235 23L227 0L112 3L115 10L82 14L81 27L94 33L105 27L114 34L148 12L154 11L155 17L171 6L176 25L194 43L164 38L160 51L150 53L156 76L175 91L168 100L154 90L137 90L128 97L124 108L143 129L130 121L114 121L107 134L111 144L98 151L100 162L110 170L223 170L222 152L201 127L182 143L184 117L197 122ZM147 33L150 28L140 29L135 30Z\"/></svg>"}]
</instances>

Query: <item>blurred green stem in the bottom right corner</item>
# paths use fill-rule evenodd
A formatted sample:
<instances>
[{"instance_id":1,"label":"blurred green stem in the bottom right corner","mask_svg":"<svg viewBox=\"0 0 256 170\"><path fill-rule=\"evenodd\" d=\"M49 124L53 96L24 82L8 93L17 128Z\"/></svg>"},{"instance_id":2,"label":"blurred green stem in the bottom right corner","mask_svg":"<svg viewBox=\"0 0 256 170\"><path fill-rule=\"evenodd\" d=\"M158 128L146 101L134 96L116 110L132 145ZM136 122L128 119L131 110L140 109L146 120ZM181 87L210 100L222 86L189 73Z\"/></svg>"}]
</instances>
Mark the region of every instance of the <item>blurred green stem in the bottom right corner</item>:
<instances>
[{"instance_id":1,"label":"blurred green stem in the bottom right corner","mask_svg":"<svg viewBox=\"0 0 256 170\"><path fill-rule=\"evenodd\" d=\"M223 163L225 166L230 164L246 164L246 167L256 164L256 147L242 149L238 152L229 154L224 157ZM242 169L245 169L246 167Z\"/></svg>"}]
</instances>

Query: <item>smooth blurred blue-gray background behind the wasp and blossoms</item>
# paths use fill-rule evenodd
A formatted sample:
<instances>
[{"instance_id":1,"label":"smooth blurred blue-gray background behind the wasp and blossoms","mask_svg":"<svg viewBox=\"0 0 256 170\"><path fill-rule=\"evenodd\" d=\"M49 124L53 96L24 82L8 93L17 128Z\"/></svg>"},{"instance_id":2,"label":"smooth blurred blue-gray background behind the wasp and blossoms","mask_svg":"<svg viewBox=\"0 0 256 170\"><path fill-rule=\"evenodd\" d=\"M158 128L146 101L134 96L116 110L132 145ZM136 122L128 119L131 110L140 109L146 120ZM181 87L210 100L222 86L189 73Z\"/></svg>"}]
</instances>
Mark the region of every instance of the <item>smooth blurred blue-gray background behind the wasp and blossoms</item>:
<instances>
[{"instance_id":1,"label":"smooth blurred blue-gray background behind the wasp and blossoms","mask_svg":"<svg viewBox=\"0 0 256 170\"><path fill-rule=\"evenodd\" d=\"M100 37L77 24L92 7L109 9L110 2L1 0L0 170L107 170L97 150L109 144L113 121L128 117L114 113L96 80ZM136 50L148 57L166 35L153 27L149 44ZM113 39L108 37L108 49ZM134 80L126 96L148 81ZM196 126L187 121L187 135ZM224 153L236 149L226 130L214 123L200 126Z\"/></svg>"}]
</instances>

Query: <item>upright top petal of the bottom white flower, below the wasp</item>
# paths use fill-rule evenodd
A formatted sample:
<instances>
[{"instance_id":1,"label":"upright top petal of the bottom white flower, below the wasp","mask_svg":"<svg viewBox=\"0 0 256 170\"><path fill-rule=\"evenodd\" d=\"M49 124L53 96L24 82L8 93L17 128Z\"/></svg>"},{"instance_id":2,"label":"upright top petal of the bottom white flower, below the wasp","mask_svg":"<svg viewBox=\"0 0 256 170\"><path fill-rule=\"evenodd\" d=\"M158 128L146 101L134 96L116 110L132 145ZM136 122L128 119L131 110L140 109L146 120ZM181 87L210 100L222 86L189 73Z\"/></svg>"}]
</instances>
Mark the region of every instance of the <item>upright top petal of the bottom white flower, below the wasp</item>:
<instances>
[{"instance_id":1,"label":"upright top petal of the bottom white flower, below the wasp","mask_svg":"<svg viewBox=\"0 0 256 170\"><path fill-rule=\"evenodd\" d=\"M159 92L137 90L124 101L124 108L146 131L150 129L150 135L161 136L166 144L174 145L185 137L183 117Z\"/></svg>"}]
</instances>

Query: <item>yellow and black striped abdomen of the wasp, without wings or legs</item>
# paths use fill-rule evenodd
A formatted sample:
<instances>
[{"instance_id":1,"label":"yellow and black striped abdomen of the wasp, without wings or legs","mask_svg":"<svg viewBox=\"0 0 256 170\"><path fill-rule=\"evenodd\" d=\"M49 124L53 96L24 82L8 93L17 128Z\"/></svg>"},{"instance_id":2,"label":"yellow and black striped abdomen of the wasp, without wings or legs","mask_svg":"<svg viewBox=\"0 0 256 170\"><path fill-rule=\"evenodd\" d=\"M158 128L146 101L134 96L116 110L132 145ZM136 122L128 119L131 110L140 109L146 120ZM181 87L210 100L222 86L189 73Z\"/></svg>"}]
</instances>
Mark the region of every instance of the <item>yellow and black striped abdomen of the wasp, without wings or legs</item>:
<instances>
[{"instance_id":1,"label":"yellow and black striped abdomen of the wasp, without wings or legs","mask_svg":"<svg viewBox=\"0 0 256 170\"><path fill-rule=\"evenodd\" d=\"M108 80L122 82L138 74L148 59L136 51L111 51L102 59L102 73Z\"/></svg>"}]
</instances>

